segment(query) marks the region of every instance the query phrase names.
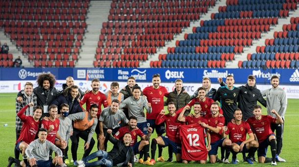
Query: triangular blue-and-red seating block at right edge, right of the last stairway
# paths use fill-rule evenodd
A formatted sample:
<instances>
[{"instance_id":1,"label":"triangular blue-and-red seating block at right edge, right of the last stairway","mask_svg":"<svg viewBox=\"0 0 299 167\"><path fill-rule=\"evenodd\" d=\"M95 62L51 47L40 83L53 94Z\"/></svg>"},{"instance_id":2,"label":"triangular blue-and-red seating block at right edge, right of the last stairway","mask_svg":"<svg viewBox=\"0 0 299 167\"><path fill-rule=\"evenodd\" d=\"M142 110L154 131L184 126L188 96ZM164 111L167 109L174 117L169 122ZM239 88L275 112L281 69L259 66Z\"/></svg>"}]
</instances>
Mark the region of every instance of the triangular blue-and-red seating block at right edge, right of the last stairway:
<instances>
[{"instance_id":1,"label":"triangular blue-and-red seating block at right edge, right of the last stairway","mask_svg":"<svg viewBox=\"0 0 299 167\"><path fill-rule=\"evenodd\" d=\"M292 17L290 23L283 25L283 31L275 31L274 39L266 39L265 46L257 46L256 53L248 54L248 61L239 67L299 68L299 17Z\"/></svg>"}]
</instances>

